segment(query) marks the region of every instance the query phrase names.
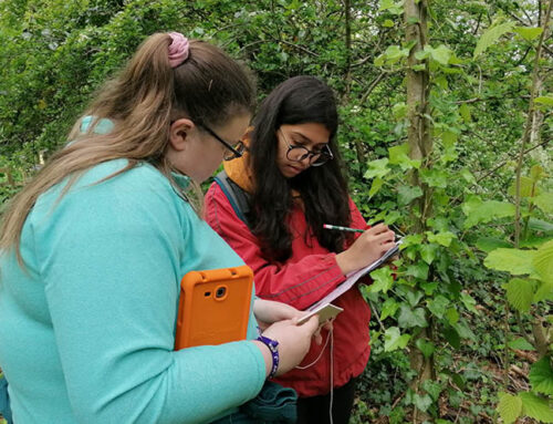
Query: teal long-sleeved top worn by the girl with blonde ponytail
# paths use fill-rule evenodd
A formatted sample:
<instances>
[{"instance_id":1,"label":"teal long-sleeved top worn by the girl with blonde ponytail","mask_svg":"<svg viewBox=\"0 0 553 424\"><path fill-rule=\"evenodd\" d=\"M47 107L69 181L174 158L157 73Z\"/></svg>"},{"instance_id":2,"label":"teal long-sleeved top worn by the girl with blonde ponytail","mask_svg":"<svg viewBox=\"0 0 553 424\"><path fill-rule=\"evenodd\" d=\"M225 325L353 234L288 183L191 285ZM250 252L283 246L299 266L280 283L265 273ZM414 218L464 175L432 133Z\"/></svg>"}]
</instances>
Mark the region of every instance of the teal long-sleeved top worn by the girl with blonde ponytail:
<instances>
[{"instance_id":1,"label":"teal long-sleeved top worn by the girl with blonde ponytail","mask_svg":"<svg viewBox=\"0 0 553 424\"><path fill-rule=\"evenodd\" d=\"M96 184L125 165L91 168L61 200L65 183L41 195L25 269L0 258L0 366L18 424L202 423L263 385L251 342L173 350L181 277L243 262L153 166Z\"/></svg>"}]
</instances>

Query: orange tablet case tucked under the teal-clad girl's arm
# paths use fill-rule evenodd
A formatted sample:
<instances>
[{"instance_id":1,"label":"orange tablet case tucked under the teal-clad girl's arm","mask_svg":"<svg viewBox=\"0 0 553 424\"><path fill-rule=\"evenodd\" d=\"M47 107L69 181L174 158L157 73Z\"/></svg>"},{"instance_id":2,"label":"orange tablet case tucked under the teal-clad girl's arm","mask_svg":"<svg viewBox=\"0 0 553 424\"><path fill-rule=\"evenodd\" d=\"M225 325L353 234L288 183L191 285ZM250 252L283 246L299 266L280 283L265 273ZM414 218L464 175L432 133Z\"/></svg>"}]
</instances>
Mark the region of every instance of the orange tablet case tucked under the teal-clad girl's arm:
<instances>
[{"instance_id":1,"label":"orange tablet case tucked under the teal-clad girl's arm","mask_svg":"<svg viewBox=\"0 0 553 424\"><path fill-rule=\"evenodd\" d=\"M253 272L246 265L182 277L175 350L244 340L252 285Z\"/></svg>"}]
</instances>

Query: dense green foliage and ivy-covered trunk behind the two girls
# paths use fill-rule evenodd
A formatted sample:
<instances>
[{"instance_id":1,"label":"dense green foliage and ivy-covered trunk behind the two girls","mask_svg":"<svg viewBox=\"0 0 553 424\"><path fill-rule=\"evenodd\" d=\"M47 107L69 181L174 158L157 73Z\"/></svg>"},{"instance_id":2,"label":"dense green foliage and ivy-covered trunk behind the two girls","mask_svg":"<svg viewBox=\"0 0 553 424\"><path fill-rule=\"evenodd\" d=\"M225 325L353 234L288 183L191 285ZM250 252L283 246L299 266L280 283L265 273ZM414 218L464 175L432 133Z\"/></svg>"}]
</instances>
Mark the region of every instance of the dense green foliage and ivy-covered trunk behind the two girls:
<instances>
[{"instance_id":1,"label":"dense green foliage and ivy-covered trunk behind the two girls","mask_svg":"<svg viewBox=\"0 0 553 424\"><path fill-rule=\"evenodd\" d=\"M376 271L355 423L553 422L551 0L2 0L0 203L139 42L177 30L257 73L317 75Z\"/></svg>"}]
</instances>

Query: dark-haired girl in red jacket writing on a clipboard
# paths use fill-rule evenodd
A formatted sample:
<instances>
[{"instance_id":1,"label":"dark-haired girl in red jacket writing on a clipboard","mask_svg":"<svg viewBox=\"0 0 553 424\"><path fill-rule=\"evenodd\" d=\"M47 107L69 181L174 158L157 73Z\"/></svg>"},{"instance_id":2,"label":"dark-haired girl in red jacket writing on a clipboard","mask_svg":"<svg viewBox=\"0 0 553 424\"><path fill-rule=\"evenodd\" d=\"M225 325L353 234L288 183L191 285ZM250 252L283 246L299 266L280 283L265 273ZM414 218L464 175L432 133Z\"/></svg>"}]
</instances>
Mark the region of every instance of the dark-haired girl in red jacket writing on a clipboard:
<instances>
[{"instance_id":1,"label":"dark-haired girl in red jacket writing on a clipboard","mask_svg":"<svg viewBox=\"0 0 553 424\"><path fill-rule=\"evenodd\" d=\"M331 89L312 76L283 82L263 101L246 136L247 152L225 163L248 199L241 220L218 184L206 195L206 220L255 275L260 298L306 309L394 246L377 225L354 238L324 224L366 228L351 200L336 145ZM299 423L349 418L355 379L369 355L371 311L357 287L336 301L344 309L323 344L312 343L301 365L276 381L300 395Z\"/></svg>"}]
</instances>

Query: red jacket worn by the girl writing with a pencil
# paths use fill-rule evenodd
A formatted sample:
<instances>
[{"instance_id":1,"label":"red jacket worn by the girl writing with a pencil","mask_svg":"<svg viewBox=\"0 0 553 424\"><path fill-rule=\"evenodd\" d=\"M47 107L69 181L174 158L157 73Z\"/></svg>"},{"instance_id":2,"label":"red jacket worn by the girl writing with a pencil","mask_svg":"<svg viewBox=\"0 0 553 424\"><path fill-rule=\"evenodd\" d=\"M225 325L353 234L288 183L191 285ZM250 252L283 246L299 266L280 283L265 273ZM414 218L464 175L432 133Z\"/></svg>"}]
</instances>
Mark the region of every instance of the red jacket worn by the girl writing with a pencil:
<instances>
[{"instance_id":1,"label":"red jacket worn by the girl writing with a pencil","mask_svg":"<svg viewBox=\"0 0 553 424\"><path fill-rule=\"evenodd\" d=\"M365 228L366 223L349 200L352 227ZM221 188L213 183L206 195L205 214L207 223L234 249L254 273L255 292L267 300L289 303L303 310L322 299L345 280L340 270L335 254L323 248L316 238L305 242L307 231L305 216L295 207L290 218L293 235L292 257L284 263L267 261L259 241L246 224L234 214L231 204ZM334 386L347 383L359 375L367 364L371 353L368 321L371 310L356 286L333 301L344 308L334 321ZM328 332L323 330L323 343L311 344L307 355L300 366L315 361L325 345ZM331 342L312 366L294 369L275 381L293 387L302 397L322 395L331 387Z\"/></svg>"}]
</instances>

